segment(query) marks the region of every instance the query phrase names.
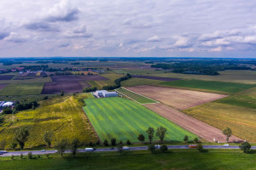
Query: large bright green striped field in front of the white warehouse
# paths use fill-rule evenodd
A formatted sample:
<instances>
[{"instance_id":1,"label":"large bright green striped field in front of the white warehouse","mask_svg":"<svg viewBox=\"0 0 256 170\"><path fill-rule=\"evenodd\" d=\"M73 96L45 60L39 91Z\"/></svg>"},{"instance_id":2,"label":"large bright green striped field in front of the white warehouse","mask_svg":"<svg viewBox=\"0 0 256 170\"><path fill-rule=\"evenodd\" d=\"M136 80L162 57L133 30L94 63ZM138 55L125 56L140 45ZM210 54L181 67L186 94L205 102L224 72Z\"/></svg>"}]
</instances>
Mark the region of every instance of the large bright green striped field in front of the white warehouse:
<instances>
[{"instance_id":1,"label":"large bright green striped field in front of the white warehouse","mask_svg":"<svg viewBox=\"0 0 256 170\"><path fill-rule=\"evenodd\" d=\"M110 142L110 139L115 138L117 141L126 142L130 139L131 142L139 142L137 137L140 133L147 136L148 127L156 129L160 126L167 128L166 141L183 141L184 135L188 135L190 139L196 137L130 99L84 99L84 102L84 111L102 141L108 139ZM156 140L159 139L154 137L154 141Z\"/></svg>"}]
</instances>

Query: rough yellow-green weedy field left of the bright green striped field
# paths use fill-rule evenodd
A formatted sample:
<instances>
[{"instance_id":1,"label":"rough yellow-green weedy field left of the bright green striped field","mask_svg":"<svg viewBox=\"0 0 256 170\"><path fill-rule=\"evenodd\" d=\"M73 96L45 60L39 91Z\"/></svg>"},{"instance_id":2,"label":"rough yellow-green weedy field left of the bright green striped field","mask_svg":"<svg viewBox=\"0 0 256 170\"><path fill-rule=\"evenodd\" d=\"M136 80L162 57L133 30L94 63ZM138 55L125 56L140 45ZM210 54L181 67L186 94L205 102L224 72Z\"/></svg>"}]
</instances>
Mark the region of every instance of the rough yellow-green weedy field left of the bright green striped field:
<instances>
[{"instance_id":1,"label":"rough yellow-green weedy field left of the bright green striped field","mask_svg":"<svg viewBox=\"0 0 256 170\"><path fill-rule=\"evenodd\" d=\"M81 96L80 96L81 95ZM60 139L71 141L78 138L83 143L95 142L96 133L90 127L90 122L84 115L80 98L90 98L91 94L78 94L44 100L36 110L20 111L15 115L4 116L0 123L0 140L7 144L14 139L15 130L27 127L29 138L26 148L32 148L44 143L44 133L53 131L53 144ZM7 148L9 145L6 146Z\"/></svg>"}]
</instances>

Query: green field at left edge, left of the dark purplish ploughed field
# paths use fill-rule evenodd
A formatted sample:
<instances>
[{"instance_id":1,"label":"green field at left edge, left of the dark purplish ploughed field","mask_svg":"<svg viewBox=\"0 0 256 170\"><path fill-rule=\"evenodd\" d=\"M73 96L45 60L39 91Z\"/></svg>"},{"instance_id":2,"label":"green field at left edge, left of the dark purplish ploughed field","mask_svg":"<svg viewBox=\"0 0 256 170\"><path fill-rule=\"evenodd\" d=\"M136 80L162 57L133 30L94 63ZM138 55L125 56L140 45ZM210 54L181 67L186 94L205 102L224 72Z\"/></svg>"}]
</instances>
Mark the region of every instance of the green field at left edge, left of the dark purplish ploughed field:
<instances>
[{"instance_id":1,"label":"green field at left edge, left of the dark purplish ploughed field","mask_svg":"<svg viewBox=\"0 0 256 170\"><path fill-rule=\"evenodd\" d=\"M44 87L43 82L13 83L0 91L0 95L33 95L41 94Z\"/></svg>"}]
</instances>

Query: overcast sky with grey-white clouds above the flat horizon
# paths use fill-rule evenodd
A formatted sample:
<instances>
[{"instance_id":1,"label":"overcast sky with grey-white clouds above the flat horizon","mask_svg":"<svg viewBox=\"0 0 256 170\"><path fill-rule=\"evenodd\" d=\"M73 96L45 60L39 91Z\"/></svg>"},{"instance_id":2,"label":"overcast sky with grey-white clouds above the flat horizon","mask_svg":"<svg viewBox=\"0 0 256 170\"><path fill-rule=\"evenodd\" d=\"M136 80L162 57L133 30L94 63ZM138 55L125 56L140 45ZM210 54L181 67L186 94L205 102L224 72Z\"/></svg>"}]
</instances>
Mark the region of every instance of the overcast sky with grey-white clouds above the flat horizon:
<instances>
[{"instance_id":1,"label":"overcast sky with grey-white clouds above the flat horizon","mask_svg":"<svg viewBox=\"0 0 256 170\"><path fill-rule=\"evenodd\" d=\"M255 16L255 0L1 0L0 57L256 58Z\"/></svg>"}]
</instances>

